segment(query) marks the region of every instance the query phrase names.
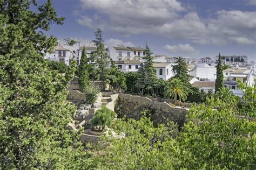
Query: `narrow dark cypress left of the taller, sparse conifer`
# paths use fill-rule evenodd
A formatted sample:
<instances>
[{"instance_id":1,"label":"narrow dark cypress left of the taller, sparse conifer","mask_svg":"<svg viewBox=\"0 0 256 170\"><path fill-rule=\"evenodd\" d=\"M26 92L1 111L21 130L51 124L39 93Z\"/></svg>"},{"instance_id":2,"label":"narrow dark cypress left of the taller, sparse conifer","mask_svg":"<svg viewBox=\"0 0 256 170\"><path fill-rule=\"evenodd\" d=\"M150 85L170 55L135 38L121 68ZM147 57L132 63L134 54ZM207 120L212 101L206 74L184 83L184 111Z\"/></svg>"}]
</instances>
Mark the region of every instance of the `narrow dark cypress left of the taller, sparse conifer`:
<instances>
[{"instance_id":1,"label":"narrow dark cypress left of the taller, sparse conifer","mask_svg":"<svg viewBox=\"0 0 256 170\"><path fill-rule=\"evenodd\" d=\"M78 66L78 84L81 91L84 92L85 88L90 85L89 65L87 61L85 47L83 47L80 65Z\"/></svg>"}]
</instances>

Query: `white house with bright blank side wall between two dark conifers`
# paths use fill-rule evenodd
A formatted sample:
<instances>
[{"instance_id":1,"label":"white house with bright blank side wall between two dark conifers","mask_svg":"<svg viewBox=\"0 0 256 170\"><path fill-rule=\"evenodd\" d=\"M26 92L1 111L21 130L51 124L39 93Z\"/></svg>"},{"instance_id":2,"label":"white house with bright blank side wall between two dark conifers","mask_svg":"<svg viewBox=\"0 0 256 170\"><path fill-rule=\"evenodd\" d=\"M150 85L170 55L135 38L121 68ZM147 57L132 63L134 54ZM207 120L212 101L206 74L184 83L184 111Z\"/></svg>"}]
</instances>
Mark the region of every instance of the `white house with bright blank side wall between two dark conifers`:
<instances>
[{"instance_id":1,"label":"white house with bright blank side wall between two dark conifers","mask_svg":"<svg viewBox=\"0 0 256 170\"><path fill-rule=\"evenodd\" d=\"M172 63L153 63L153 67L156 68L157 71L157 77L158 79L163 79L167 81L171 77L174 76L174 73L172 72Z\"/></svg>"}]
</instances>

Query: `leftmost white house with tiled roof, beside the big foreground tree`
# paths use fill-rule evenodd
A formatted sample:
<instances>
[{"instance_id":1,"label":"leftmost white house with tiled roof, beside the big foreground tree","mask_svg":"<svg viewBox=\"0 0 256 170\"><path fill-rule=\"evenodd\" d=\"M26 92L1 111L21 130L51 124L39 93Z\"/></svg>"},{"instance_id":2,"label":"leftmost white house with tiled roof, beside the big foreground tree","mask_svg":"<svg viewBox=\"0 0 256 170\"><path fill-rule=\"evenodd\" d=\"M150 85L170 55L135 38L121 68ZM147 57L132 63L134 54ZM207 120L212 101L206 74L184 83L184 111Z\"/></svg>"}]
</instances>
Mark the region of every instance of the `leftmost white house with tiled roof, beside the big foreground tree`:
<instances>
[{"instance_id":1,"label":"leftmost white house with tiled roof, beside the big foreground tree","mask_svg":"<svg viewBox=\"0 0 256 170\"><path fill-rule=\"evenodd\" d=\"M77 57L78 57L77 54L71 52L68 48L65 48L63 46L57 46L55 48L54 53L45 55L45 59L49 59L57 62L63 62L67 66L70 65L72 60L76 60Z\"/></svg>"}]
</instances>

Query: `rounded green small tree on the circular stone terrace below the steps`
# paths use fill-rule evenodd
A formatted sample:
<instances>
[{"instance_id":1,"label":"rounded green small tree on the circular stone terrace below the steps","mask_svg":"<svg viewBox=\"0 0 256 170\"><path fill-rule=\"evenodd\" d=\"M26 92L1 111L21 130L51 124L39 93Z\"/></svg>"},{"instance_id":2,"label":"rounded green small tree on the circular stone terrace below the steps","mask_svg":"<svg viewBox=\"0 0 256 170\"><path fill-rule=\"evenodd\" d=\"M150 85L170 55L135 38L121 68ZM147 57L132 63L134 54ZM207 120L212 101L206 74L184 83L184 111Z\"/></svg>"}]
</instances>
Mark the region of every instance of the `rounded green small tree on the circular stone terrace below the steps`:
<instances>
[{"instance_id":1,"label":"rounded green small tree on the circular stone terrace below the steps","mask_svg":"<svg viewBox=\"0 0 256 170\"><path fill-rule=\"evenodd\" d=\"M91 118L90 123L95 129L99 126L97 130L102 131L106 125L111 126L114 117L116 117L116 113L103 106L102 109L99 109Z\"/></svg>"}]
</instances>

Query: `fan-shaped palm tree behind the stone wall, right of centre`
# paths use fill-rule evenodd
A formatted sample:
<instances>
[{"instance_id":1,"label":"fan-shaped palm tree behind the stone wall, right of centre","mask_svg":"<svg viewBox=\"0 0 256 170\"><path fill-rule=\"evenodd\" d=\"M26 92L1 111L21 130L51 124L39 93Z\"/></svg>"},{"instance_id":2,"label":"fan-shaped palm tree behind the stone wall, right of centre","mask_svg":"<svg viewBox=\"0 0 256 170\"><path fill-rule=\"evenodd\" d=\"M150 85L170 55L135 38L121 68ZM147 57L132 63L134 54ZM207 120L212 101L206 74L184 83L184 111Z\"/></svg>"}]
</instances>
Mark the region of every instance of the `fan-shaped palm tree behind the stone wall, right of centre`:
<instances>
[{"instance_id":1,"label":"fan-shaped palm tree behind the stone wall, right of centre","mask_svg":"<svg viewBox=\"0 0 256 170\"><path fill-rule=\"evenodd\" d=\"M177 100L178 96L180 101L185 101L187 95L188 88L181 80L176 78L170 79L164 88L164 96L166 98L174 98L174 101Z\"/></svg>"}]
</instances>

